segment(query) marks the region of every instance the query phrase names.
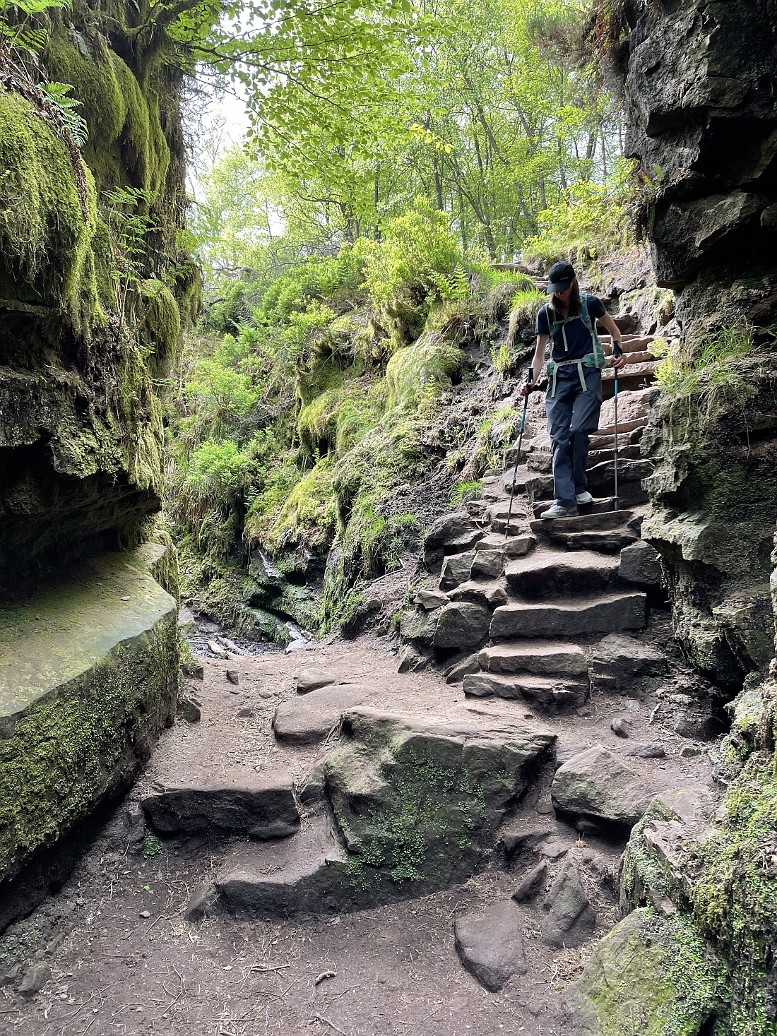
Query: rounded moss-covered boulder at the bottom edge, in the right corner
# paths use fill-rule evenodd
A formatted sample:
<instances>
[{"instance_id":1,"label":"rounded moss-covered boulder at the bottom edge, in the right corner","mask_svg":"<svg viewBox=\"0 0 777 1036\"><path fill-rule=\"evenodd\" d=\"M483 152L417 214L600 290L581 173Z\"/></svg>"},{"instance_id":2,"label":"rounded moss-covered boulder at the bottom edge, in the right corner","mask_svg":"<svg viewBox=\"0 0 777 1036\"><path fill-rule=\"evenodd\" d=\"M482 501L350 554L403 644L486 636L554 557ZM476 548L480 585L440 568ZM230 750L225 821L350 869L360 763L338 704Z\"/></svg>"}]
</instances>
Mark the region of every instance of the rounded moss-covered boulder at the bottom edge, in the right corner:
<instances>
[{"instance_id":1,"label":"rounded moss-covered boulder at the bottom edge, in the right corner","mask_svg":"<svg viewBox=\"0 0 777 1036\"><path fill-rule=\"evenodd\" d=\"M727 994L727 967L688 918L636 910L599 943L566 1006L580 1036L699 1036Z\"/></svg>"}]
</instances>

